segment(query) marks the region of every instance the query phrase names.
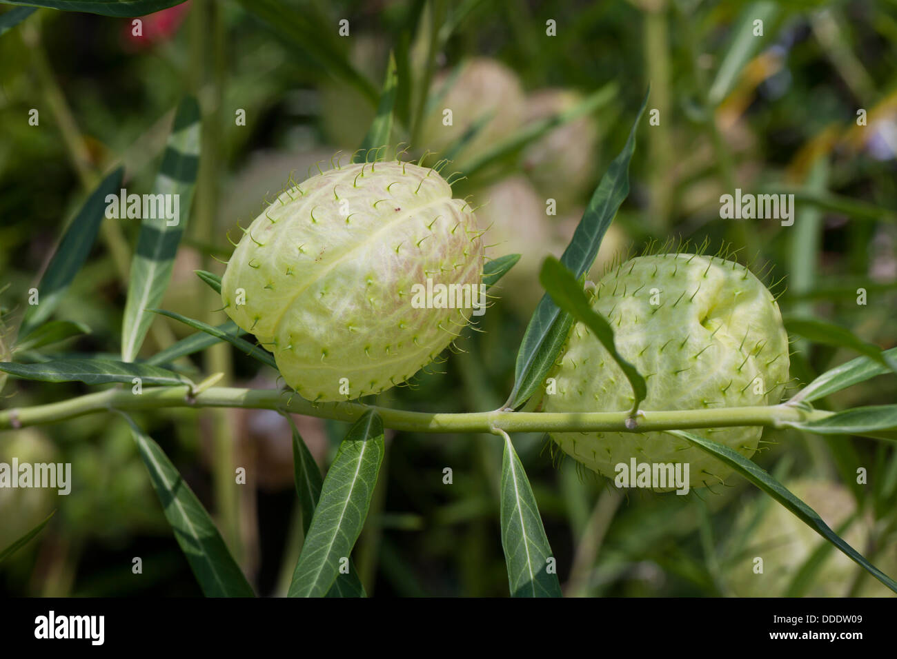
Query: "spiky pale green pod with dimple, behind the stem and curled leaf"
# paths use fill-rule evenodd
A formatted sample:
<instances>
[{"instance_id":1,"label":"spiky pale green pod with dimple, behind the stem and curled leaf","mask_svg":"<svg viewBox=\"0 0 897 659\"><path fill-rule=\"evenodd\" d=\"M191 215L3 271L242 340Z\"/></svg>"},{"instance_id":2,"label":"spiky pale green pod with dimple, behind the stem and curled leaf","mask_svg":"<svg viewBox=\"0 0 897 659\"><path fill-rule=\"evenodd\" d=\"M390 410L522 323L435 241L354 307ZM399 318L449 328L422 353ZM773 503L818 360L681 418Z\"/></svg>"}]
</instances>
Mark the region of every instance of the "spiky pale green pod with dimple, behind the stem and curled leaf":
<instances>
[{"instance_id":1,"label":"spiky pale green pod with dimple, behind the stem and curled leaf","mask_svg":"<svg viewBox=\"0 0 897 659\"><path fill-rule=\"evenodd\" d=\"M788 380L788 334L769 290L745 266L716 256L664 254L623 263L598 282L592 308L614 329L623 358L645 377L640 410L718 409L778 403ZM633 395L604 346L576 323L545 412L625 412ZM700 429L745 457L758 427ZM617 464L689 464L690 487L731 473L684 439L660 433L558 433L562 450L614 478ZM673 488L658 490L668 491Z\"/></svg>"}]
</instances>

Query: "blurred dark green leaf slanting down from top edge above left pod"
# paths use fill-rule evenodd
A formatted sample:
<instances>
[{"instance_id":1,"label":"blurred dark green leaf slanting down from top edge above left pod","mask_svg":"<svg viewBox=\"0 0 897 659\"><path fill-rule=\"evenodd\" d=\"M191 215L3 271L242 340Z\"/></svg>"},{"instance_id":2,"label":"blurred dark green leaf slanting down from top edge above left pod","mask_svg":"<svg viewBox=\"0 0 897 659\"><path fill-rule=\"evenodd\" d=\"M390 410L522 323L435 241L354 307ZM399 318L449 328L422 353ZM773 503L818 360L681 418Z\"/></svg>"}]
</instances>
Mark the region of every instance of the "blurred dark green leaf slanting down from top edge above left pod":
<instances>
[{"instance_id":1,"label":"blurred dark green leaf slanting down from top edge above left pod","mask_svg":"<svg viewBox=\"0 0 897 659\"><path fill-rule=\"evenodd\" d=\"M370 100L372 106L377 105L377 89L349 61L337 40L335 22L329 24L309 7L300 11L279 0L239 0L239 4L263 22L285 46L309 58L335 79L352 85Z\"/></svg>"}]
</instances>

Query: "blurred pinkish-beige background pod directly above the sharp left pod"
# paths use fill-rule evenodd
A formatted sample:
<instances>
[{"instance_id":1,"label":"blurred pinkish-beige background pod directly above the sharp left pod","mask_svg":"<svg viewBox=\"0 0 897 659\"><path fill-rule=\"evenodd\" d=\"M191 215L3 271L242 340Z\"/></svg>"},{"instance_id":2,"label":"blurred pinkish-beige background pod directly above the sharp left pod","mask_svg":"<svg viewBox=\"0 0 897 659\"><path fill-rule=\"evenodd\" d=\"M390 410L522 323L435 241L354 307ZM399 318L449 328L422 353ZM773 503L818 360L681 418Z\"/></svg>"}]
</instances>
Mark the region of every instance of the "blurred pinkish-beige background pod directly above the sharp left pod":
<instances>
[{"instance_id":1,"label":"blurred pinkish-beige background pod directly above the sharp left pod","mask_svg":"<svg viewBox=\"0 0 897 659\"><path fill-rule=\"evenodd\" d=\"M422 122L414 148L418 152L445 153L478 121L485 121L475 137L455 154L459 169L466 160L483 153L494 143L516 132L523 124L524 100L517 74L493 59L477 57L436 76L431 94L436 95ZM445 126L445 110L451 110L452 125ZM488 120L485 117L491 117Z\"/></svg>"}]
</instances>

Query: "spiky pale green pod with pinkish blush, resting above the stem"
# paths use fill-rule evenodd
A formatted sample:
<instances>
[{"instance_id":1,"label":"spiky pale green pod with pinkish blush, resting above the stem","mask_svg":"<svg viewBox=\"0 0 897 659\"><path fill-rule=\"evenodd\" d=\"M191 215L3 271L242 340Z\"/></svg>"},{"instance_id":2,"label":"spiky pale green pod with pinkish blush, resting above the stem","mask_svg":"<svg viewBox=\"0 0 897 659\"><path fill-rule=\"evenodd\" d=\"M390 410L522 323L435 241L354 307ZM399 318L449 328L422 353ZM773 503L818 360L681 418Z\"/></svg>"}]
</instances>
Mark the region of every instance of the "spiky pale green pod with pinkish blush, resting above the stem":
<instances>
[{"instance_id":1,"label":"spiky pale green pod with pinkish blush, resting above the stem","mask_svg":"<svg viewBox=\"0 0 897 659\"><path fill-rule=\"evenodd\" d=\"M283 192L252 222L222 300L300 395L348 400L429 364L479 313L482 275L474 213L438 172L353 164ZM470 291L468 304L422 299L428 280Z\"/></svg>"}]
</instances>

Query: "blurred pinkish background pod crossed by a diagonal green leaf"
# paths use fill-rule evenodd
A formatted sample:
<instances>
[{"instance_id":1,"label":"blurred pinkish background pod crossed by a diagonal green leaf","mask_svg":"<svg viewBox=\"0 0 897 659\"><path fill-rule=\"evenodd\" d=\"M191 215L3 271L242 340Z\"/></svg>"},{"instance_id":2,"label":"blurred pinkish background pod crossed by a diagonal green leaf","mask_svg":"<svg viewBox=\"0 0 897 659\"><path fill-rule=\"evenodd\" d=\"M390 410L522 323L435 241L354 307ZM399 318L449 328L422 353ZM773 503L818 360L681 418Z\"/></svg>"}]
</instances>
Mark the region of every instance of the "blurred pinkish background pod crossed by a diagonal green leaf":
<instances>
[{"instance_id":1,"label":"blurred pinkish background pod crossed by a diagonal green leaf","mask_svg":"<svg viewBox=\"0 0 897 659\"><path fill-rule=\"evenodd\" d=\"M527 96L527 124L570 109L583 97L578 91L544 89ZM569 211L595 186L598 129L584 116L558 126L522 153L521 164L540 195L555 199L559 212Z\"/></svg>"}]
</instances>

